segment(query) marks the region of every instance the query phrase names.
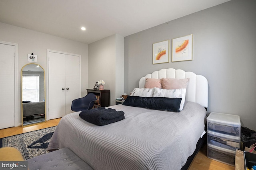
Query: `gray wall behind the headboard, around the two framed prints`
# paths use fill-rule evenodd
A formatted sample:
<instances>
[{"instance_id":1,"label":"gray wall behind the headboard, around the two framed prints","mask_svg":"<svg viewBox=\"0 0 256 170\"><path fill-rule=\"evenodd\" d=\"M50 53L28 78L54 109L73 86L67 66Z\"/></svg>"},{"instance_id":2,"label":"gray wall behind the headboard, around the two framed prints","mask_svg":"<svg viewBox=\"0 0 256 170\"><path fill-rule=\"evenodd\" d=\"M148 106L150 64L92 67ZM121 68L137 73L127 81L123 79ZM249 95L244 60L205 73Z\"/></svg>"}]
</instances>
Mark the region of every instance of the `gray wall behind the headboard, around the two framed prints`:
<instances>
[{"instance_id":1,"label":"gray wall behind the headboard, around the two framed prints","mask_svg":"<svg viewBox=\"0 0 256 170\"><path fill-rule=\"evenodd\" d=\"M162 68L208 79L210 112L240 115L256 130L256 1L232 0L124 38L124 91ZM152 44L193 34L193 60L152 64ZM170 55L171 57L171 55Z\"/></svg>"}]
</instances>

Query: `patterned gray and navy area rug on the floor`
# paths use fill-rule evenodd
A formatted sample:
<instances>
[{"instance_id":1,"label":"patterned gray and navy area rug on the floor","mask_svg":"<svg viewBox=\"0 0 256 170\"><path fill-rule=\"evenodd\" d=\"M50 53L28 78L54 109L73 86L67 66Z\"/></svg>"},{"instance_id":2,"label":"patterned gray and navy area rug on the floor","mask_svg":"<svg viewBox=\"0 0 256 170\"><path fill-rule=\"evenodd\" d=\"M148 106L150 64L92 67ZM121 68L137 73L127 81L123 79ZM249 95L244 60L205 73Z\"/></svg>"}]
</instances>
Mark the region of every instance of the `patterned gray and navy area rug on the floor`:
<instances>
[{"instance_id":1,"label":"patterned gray and navy area rug on the floor","mask_svg":"<svg viewBox=\"0 0 256 170\"><path fill-rule=\"evenodd\" d=\"M24 160L48 153L47 147L56 126L22 133L0 139L1 147L14 147L20 150Z\"/></svg>"}]
</instances>

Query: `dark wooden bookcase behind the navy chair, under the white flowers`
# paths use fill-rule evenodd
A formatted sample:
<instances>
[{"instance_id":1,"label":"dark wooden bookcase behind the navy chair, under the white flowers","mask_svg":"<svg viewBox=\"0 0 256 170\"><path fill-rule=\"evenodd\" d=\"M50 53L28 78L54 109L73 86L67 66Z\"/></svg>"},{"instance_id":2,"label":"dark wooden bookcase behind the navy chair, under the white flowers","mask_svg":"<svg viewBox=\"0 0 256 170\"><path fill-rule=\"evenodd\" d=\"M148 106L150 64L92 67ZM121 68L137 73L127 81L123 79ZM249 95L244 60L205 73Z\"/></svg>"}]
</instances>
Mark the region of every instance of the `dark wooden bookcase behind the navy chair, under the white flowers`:
<instances>
[{"instance_id":1,"label":"dark wooden bookcase behind the navy chair, under the white flowers","mask_svg":"<svg viewBox=\"0 0 256 170\"><path fill-rule=\"evenodd\" d=\"M94 102L95 107L108 107L110 106L110 90L99 90L99 89L86 89L87 94L93 93L96 97Z\"/></svg>"}]
</instances>

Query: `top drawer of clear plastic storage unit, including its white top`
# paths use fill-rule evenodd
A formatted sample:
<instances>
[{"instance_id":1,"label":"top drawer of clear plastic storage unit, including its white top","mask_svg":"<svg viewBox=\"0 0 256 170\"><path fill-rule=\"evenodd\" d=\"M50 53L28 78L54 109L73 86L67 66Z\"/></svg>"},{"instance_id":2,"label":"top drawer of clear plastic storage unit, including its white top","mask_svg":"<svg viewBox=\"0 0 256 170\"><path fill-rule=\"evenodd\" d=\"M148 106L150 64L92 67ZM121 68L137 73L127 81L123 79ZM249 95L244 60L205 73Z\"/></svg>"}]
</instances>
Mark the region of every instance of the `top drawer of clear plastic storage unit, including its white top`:
<instances>
[{"instance_id":1,"label":"top drawer of clear plastic storage unit, including its white top","mask_svg":"<svg viewBox=\"0 0 256 170\"><path fill-rule=\"evenodd\" d=\"M223 133L226 135L240 138L240 117L238 115L212 112L207 117L207 131Z\"/></svg>"}]
</instances>

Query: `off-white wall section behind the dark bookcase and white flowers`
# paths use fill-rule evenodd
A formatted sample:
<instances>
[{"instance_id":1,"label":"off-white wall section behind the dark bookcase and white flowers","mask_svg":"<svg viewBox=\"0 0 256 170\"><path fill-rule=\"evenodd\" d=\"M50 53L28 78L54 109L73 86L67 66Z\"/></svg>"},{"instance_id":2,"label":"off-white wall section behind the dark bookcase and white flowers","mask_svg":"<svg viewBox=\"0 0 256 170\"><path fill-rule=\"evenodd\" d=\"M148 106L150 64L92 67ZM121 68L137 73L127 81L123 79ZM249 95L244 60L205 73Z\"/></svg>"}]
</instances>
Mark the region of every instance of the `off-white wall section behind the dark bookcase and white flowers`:
<instances>
[{"instance_id":1,"label":"off-white wall section behind the dark bookcase and white flowers","mask_svg":"<svg viewBox=\"0 0 256 170\"><path fill-rule=\"evenodd\" d=\"M110 90L110 106L124 93L124 37L111 35L88 45L89 88L104 80Z\"/></svg>"}]
</instances>

